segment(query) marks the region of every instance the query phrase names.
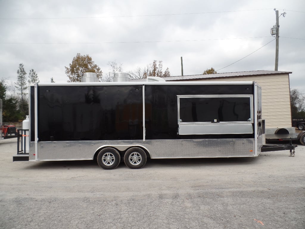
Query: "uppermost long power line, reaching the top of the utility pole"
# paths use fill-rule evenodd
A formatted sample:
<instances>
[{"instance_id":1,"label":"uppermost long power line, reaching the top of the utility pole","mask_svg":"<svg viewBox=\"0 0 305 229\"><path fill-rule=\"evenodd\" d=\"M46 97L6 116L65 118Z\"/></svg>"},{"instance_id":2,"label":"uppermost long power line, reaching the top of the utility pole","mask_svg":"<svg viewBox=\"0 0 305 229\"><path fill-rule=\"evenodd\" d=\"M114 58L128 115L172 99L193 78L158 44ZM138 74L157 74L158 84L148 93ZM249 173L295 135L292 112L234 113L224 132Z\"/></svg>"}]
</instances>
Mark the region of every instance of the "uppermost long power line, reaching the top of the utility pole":
<instances>
[{"instance_id":1,"label":"uppermost long power line, reaching the top of the utility pole","mask_svg":"<svg viewBox=\"0 0 305 229\"><path fill-rule=\"evenodd\" d=\"M201 13L172 13L172 14L148 14L148 15L126 15L126 16L94 16L94 17L29 17L29 18L0 18L0 20L25 20L25 19L87 19L87 18L117 18L117 17L150 17L150 16L174 16L174 15L191 15L191 14L207 14L207 13L230 13L230 12L245 12L269 9L246 9L246 10L231 10L231 11L215 11Z\"/></svg>"}]
</instances>

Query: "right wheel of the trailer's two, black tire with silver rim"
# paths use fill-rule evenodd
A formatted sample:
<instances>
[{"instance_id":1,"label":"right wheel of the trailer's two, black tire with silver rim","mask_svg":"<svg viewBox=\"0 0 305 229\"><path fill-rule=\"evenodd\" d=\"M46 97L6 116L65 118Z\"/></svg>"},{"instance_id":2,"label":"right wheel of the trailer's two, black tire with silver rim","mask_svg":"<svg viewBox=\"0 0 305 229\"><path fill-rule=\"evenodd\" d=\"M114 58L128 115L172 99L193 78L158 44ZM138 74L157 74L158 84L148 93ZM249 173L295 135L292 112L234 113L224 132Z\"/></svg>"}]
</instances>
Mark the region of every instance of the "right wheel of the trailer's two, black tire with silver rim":
<instances>
[{"instance_id":1,"label":"right wheel of the trailer's two, black tire with silver rim","mask_svg":"<svg viewBox=\"0 0 305 229\"><path fill-rule=\"evenodd\" d=\"M144 150L139 147L128 149L124 155L125 165L130 169L141 169L147 160Z\"/></svg>"}]
</instances>

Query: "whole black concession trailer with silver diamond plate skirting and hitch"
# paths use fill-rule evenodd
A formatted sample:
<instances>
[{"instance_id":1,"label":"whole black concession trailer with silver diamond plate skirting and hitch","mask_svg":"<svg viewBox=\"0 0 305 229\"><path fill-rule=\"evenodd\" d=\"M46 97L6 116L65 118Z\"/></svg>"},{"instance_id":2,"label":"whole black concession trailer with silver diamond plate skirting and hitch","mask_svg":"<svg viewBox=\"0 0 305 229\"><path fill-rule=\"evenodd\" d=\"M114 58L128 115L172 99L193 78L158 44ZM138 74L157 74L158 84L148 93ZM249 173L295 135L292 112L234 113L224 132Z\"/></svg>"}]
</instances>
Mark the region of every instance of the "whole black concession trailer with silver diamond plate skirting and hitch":
<instances>
[{"instance_id":1,"label":"whole black concession trailer with silver diamond plate skirting and hitch","mask_svg":"<svg viewBox=\"0 0 305 229\"><path fill-rule=\"evenodd\" d=\"M124 160L137 169L147 158L272 151L263 147L256 82L38 83L30 86L29 109L16 161L96 159L114 169Z\"/></svg>"}]
</instances>

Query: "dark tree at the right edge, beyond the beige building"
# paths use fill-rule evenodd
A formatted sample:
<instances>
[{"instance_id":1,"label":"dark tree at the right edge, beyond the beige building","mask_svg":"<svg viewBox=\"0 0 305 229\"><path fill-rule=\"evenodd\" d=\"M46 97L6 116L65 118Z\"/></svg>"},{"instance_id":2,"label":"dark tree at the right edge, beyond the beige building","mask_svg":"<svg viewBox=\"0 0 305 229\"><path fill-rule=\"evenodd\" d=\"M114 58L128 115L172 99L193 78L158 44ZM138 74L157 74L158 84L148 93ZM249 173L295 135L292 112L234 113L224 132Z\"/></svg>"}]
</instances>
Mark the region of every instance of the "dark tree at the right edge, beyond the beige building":
<instances>
[{"instance_id":1,"label":"dark tree at the right edge, beyond the beige building","mask_svg":"<svg viewBox=\"0 0 305 229\"><path fill-rule=\"evenodd\" d=\"M298 89L290 89L290 105L292 118L305 117L305 95Z\"/></svg>"}]
</instances>

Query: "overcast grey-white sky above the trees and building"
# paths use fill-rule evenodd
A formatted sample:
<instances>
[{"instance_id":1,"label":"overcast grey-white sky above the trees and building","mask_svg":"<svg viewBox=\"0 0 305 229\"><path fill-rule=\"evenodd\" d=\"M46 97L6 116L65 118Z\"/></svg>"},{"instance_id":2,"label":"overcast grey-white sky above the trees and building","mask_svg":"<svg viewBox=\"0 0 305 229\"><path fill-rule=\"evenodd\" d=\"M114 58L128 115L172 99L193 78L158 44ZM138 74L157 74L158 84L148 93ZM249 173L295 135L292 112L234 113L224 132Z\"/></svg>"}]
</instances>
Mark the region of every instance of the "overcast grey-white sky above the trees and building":
<instances>
[{"instance_id":1,"label":"overcast grey-white sky above the trees and building","mask_svg":"<svg viewBox=\"0 0 305 229\"><path fill-rule=\"evenodd\" d=\"M77 53L91 56L104 73L109 61L130 71L162 60L163 71L177 76L181 56L184 75L210 67L274 70L274 8L286 12L279 19L278 70L292 71L290 87L305 93L304 0L0 0L0 78L16 81L23 63L40 82L66 82L65 66Z\"/></svg>"}]
</instances>

